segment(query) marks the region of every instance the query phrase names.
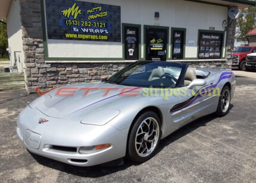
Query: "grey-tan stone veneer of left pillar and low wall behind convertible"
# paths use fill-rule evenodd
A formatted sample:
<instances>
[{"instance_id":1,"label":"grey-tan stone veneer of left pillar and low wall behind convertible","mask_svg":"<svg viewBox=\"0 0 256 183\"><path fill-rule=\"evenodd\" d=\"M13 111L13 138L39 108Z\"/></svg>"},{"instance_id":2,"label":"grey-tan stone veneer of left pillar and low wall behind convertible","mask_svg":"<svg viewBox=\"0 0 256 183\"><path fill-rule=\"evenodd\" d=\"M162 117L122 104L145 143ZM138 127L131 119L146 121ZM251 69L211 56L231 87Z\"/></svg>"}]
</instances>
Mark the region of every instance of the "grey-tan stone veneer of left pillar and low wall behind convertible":
<instances>
[{"instance_id":1,"label":"grey-tan stone veneer of left pillar and low wall behind convertible","mask_svg":"<svg viewBox=\"0 0 256 183\"><path fill-rule=\"evenodd\" d=\"M20 0L23 26L23 50L26 64L25 81L29 94L36 88L49 89L108 78L124 68L123 63L46 63L39 0ZM226 61L188 62L192 67L227 69Z\"/></svg>"}]
</instances>

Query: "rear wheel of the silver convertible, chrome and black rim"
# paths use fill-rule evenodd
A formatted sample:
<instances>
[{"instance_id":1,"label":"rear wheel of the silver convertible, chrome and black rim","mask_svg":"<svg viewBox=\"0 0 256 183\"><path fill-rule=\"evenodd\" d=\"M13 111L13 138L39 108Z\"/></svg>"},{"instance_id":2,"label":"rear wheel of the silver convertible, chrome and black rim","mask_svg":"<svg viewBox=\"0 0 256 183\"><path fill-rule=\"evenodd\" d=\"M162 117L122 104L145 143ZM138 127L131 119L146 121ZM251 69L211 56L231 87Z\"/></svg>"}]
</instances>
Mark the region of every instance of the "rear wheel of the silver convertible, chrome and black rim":
<instances>
[{"instance_id":1,"label":"rear wheel of the silver convertible, chrome and black rim","mask_svg":"<svg viewBox=\"0 0 256 183\"><path fill-rule=\"evenodd\" d=\"M218 117L223 117L229 113L230 99L230 88L229 86L224 86L218 99L218 108L215 113Z\"/></svg>"}]
</instances>

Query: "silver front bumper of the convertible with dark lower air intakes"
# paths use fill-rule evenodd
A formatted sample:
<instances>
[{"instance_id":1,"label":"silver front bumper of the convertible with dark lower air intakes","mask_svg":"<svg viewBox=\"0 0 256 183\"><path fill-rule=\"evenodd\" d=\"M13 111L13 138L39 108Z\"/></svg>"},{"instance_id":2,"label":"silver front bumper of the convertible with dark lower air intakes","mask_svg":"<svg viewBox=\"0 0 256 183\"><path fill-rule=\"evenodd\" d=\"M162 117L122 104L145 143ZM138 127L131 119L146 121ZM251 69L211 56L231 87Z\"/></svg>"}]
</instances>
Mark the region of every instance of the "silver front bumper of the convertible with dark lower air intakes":
<instances>
[{"instance_id":1,"label":"silver front bumper of the convertible with dark lower air intakes","mask_svg":"<svg viewBox=\"0 0 256 183\"><path fill-rule=\"evenodd\" d=\"M40 118L48 122L39 124ZM30 152L76 166L99 165L123 158L128 130L117 130L108 124L93 126L52 118L29 107L17 120L18 137ZM80 147L105 143L111 146L98 152L79 153Z\"/></svg>"}]
</instances>

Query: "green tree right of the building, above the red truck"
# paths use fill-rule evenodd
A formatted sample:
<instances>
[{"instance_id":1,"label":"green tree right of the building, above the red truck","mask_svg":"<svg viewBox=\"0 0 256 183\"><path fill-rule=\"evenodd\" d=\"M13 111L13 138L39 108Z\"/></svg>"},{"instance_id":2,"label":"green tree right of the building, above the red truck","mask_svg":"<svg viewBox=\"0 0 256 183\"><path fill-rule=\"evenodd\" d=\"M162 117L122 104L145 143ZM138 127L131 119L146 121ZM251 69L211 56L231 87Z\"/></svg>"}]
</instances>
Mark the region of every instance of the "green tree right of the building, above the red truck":
<instances>
[{"instance_id":1,"label":"green tree right of the building, above the red truck","mask_svg":"<svg viewBox=\"0 0 256 183\"><path fill-rule=\"evenodd\" d=\"M241 9L236 20L236 26L238 27L236 39L249 42L249 37L246 34L256 27L256 7Z\"/></svg>"}]
</instances>

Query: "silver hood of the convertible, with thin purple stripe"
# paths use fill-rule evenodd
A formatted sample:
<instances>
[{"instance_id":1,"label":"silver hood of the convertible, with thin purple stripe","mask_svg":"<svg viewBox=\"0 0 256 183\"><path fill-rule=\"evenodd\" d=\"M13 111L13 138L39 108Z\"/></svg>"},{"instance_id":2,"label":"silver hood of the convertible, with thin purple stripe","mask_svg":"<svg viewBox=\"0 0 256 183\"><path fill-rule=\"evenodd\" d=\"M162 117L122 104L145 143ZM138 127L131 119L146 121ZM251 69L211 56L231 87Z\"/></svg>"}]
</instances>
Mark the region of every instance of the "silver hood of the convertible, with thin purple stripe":
<instances>
[{"instance_id":1,"label":"silver hood of the convertible, with thin purple stripe","mask_svg":"<svg viewBox=\"0 0 256 183\"><path fill-rule=\"evenodd\" d=\"M88 88L90 88L89 92ZM111 91L108 95L105 95L107 88ZM134 91L135 89L138 88L105 82L65 86L43 95L32 102L30 107L37 108L49 117L82 120L86 115L95 113L95 111L102 108L118 110L116 109L117 103L131 99L130 97L121 96L121 92L128 94L128 91ZM85 96L86 92L88 94Z\"/></svg>"}]
</instances>

